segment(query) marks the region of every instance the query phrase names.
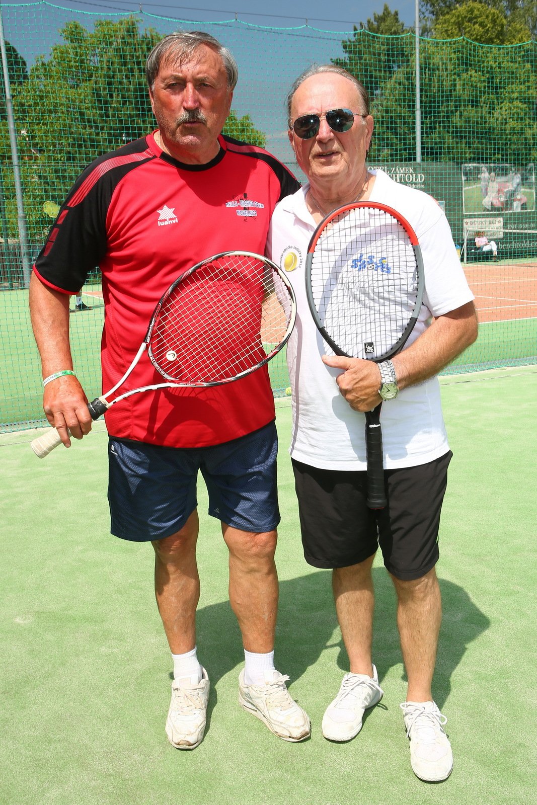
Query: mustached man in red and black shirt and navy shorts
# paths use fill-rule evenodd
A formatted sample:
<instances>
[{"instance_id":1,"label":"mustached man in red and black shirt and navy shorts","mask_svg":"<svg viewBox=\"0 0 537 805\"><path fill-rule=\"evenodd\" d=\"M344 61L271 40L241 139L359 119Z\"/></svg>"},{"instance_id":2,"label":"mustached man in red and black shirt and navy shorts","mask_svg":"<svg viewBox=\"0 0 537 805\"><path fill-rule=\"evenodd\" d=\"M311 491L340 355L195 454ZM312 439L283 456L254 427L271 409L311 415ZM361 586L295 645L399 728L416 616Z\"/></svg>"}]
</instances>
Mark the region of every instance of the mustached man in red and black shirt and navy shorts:
<instances>
[{"instance_id":1,"label":"mustached man in red and black shirt and navy shorts","mask_svg":"<svg viewBox=\"0 0 537 805\"><path fill-rule=\"evenodd\" d=\"M299 187L262 148L222 136L238 69L217 39L199 31L168 35L148 57L146 73L158 128L84 171L31 279L43 377L60 373L47 383L43 407L66 446L69 431L81 439L91 427L68 343L68 295L89 270L101 267L101 362L109 388L126 371L155 304L180 272L227 250L262 252L275 204ZM150 361L138 364L131 378L132 388L160 379ZM202 740L209 696L196 653L199 469L209 514L221 520L229 548L229 596L246 658L240 703L286 741L310 732L308 716L287 691L287 676L274 665L274 420L266 367L223 386L134 395L106 414L111 530L122 539L151 541L155 549L155 595L174 662L166 732L179 749Z\"/></svg>"}]
</instances>

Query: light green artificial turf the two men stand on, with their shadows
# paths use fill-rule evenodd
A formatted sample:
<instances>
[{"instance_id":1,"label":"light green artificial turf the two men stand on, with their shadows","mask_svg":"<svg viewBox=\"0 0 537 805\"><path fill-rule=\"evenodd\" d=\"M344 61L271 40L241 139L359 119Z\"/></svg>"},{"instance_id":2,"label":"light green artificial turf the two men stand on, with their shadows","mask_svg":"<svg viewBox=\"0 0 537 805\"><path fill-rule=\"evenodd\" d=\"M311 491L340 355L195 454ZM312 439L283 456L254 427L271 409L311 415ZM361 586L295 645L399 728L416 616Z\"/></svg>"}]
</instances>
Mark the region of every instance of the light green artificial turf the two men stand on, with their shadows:
<instances>
[{"instance_id":1,"label":"light green artificial turf the two men stand on, with their shadows","mask_svg":"<svg viewBox=\"0 0 537 805\"><path fill-rule=\"evenodd\" d=\"M411 772L394 593L380 560L374 662L385 691L348 744L324 708L347 670L330 574L304 563L281 407L276 664L312 719L291 744L238 706L238 627L226 550L200 486L198 654L211 679L201 745L164 733L171 658L152 591L152 551L109 536L101 423L38 460L35 431L2 436L2 805L525 805L535 802L535 397L537 367L442 380L454 458L440 532L444 622L435 696L455 766Z\"/></svg>"}]
</instances>

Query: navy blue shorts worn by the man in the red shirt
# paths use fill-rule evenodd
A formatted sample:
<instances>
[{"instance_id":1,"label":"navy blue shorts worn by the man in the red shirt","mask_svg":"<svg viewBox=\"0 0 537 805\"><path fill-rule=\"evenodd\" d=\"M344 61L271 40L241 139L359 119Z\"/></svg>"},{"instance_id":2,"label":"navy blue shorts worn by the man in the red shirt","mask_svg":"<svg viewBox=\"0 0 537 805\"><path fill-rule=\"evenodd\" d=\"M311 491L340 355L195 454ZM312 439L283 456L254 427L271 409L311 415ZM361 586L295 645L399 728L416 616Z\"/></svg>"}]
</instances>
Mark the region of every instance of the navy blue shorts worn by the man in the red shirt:
<instances>
[{"instance_id":1,"label":"navy blue shorts worn by the man in the red shirt","mask_svg":"<svg viewBox=\"0 0 537 805\"><path fill-rule=\"evenodd\" d=\"M208 448L165 448L109 439L112 534L133 542L179 531L197 506L198 470L209 492L209 514L261 534L279 523L274 422Z\"/></svg>"}]
</instances>

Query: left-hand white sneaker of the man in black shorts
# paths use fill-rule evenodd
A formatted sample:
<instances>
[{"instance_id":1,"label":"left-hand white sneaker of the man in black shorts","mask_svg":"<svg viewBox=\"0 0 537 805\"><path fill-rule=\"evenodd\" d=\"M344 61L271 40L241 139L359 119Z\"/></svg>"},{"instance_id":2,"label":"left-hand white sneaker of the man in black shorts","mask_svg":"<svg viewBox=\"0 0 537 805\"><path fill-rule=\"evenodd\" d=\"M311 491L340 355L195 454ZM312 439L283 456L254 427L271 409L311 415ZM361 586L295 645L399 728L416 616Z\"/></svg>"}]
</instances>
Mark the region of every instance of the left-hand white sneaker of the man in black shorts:
<instances>
[{"instance_id":1,"label":"left-hand white sneaker of the man in black shorts","mask_svg":"<svg viewBox=\"0 0 537 805\"><path fill-rule=\"evenodd\" d=\"M350 741L360 732L366 709L378 704L383 693L374 666L373 677L368 674L345 674L339 693L324 712L324 737L328 741Z\"/></svg>"}]
</instances>

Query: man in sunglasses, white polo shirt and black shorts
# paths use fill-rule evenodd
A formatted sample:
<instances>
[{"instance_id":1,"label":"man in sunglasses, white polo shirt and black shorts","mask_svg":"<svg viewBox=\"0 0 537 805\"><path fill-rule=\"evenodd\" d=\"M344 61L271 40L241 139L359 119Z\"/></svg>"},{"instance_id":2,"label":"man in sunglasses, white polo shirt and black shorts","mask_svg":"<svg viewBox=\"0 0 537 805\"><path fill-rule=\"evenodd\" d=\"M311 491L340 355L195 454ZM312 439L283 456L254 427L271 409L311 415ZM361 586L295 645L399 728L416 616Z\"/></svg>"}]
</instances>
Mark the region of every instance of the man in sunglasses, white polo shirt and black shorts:
<instances>
[{"instance_id":1,"label":"man in sunglasses, white polo shirt and black shorts","mask_svg":"<svg viewBox=\"0 0 537 805\"><path fill-rule=\"evenodd\" d=\"M333 568L350 664L324 713L322 731L330 741L349 741L360 731L366 708L382 697L371 658L371 568L380 544L398 598L408 678L401 707L411 766L423 780L442 780L452 770L452 750L443 729L446 718L432 698L441 619L435 565L451 452L436 374L477 336L473 295L436 201L366 167L374 122L363 85L341 68L313 65L295 81L287 105L291 147L308 184L277 205L267 251L282 267L289 266L290 254L296 258L288 276L297 296L297 326L287 362L300 526L306 561ZM331 129L329 110L346 115L346 130ZM407 348L380 367L324 355L306 299L305 255L316 225L341 204L357 200L399 210L423 252L426 294L419 320ZM366 506L365 420L358 412L382 399L389 400L382 409L388 506L372 511Z\"/></svg>"}]
</instances>

